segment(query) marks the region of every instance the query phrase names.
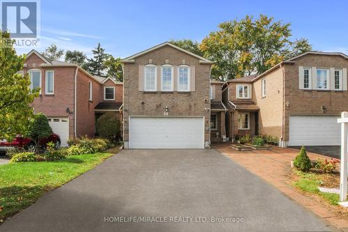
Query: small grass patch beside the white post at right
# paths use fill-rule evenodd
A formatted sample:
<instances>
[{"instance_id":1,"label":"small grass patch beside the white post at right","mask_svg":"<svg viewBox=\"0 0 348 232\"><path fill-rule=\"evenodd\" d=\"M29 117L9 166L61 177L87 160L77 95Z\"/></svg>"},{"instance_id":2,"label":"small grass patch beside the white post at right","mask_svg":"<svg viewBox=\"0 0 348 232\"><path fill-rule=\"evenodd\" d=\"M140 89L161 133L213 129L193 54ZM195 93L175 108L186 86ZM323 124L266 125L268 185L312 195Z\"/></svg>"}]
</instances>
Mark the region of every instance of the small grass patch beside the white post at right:
<instances>
[{"instance_id":1,"label":"small grass patch beside the white post at right","mask_svg":"<svg viewBox=\"0 0 348 232\"><path fill-rule=\"evenodd\" d=\"M294 173L298 177L298 180L294 181L294 186L302 190L303 192L309 192L311 194L317 194L322 196L323 199L328 201L331 205L337 206L340 196L338 194L331 194L326 192L320 192L318 187L322 180L316 173L304 173L302 171L294 170Z\"/></svg>"}]
</instances>

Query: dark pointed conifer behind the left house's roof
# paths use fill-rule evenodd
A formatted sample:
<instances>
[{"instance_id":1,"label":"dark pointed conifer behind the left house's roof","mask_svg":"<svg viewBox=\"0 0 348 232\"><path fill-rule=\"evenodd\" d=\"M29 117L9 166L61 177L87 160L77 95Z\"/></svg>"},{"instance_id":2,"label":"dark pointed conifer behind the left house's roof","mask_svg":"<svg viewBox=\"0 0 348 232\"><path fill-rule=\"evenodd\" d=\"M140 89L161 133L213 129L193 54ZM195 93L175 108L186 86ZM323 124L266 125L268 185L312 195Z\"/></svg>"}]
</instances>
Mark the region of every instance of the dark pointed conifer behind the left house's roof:
<instances>
[{"instance_id":1,"label":"dark pointed conifer behind the left house's roof","mask_svg":"<svg viewBox=\"0 0 348 232\"><path fill-rule=\"evenodd\" d=\"M90 74L97 75L100 77L106 77L105 61L108 59L109 54L105 53L105 49L100 46L100 42L97 47L92 50L93 58L88 59L88 70Z\"/></svg>"}]
</instances>

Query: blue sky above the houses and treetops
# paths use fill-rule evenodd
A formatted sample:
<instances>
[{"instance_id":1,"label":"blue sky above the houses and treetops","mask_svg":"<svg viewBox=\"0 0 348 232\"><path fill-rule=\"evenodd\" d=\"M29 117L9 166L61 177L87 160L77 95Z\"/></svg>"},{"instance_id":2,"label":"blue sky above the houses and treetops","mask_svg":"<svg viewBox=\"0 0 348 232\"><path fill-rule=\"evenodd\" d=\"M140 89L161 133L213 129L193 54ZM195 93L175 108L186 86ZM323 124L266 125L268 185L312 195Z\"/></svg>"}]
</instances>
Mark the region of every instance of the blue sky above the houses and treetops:
<instances>
[{"instance_id":1,"label":"blue sky above the houses and treetops","mask_svg":"<svg viewBox=\"0 0 348 232\"><path fill-rule=\"evenodd\" d=\"M307 38L313 50L348 54L348 1L40 1L40 47L88 56L98 42L124 58L171 39L200 42L219 23L260 14L290 22L292 38ZM29 48L17 49L19 54Z\"/></svg>"}]
</instances>

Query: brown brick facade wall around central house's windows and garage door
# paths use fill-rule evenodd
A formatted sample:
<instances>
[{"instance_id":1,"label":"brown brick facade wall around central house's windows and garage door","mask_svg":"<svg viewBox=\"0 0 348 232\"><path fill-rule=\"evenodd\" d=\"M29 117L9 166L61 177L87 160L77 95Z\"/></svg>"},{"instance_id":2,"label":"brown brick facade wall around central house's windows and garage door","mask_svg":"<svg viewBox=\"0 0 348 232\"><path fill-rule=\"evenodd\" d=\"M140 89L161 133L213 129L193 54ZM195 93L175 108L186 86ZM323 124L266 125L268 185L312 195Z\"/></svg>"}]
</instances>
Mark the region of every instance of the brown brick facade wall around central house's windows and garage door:
<instances>
[{"instance_id":1,"label":"brown brick facade wall around central house's windows and garage door","mask_svg":"<svg viewBox=\"0 0 348 232\"><path fill-rule=\"evenodd\" d=\"M152 59L155 65L168 63L181 65L182 61L187 65L196 66L196 88L189 93L145 93L139 91L139 65L145 65ZM205 141L209 141L209 75L210 65L203 65L194 57L174 49L170 46L160 47L147 54L136 57L135 63L124 63L124 141L127 144L128 117L129 116L163 116L165 107L168 106L171 116L204 116L205 117Z\"/></svg>"}]
</instances>

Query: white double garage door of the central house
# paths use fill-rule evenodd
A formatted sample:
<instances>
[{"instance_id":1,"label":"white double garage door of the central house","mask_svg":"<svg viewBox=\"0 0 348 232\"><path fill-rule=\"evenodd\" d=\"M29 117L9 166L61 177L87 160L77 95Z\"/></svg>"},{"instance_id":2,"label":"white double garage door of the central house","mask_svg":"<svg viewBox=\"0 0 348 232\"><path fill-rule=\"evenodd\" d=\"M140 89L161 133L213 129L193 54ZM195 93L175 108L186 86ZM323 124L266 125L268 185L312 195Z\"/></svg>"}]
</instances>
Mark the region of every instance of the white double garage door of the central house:
<instances>
[{"instance_id":1,"label":"white double garage door of the central house","mask_svg":"<svg viewBox=\"0 0 348 232\"><path fill-rule=\"evenodd\" d=\"M203 117L130 117L129 148L204 148Z\"/></svg>"}]
</instances>

